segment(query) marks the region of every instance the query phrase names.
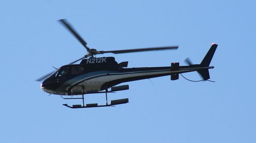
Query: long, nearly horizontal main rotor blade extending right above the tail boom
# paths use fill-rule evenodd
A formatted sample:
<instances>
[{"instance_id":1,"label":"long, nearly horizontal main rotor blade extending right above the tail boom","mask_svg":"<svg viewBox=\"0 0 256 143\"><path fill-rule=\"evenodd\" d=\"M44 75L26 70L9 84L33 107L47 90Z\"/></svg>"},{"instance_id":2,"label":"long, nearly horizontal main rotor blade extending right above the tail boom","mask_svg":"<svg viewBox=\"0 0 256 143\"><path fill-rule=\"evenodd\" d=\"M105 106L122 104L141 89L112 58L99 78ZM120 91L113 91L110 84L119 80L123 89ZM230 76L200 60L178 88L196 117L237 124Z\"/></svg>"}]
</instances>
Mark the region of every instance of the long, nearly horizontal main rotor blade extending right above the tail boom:
<instances>
[{"instance_id":1,"label":"long, nearly horizontal main rotor blade extending right above the tail boom","mask_svg":"<svg viewBox=\"0 0 256 143\"><path fill-rule=\"evenodd\" d=\"M141 48L141 49L127 49L127 50L116 50L116 51L98 51L99 53L132 53L132 52L143 52L143 51L157 51L157 50L168 50L168 49L178 49L178 46L170 46L170 47L152 47L152 48Z\"/></svg>"}]
</instances>

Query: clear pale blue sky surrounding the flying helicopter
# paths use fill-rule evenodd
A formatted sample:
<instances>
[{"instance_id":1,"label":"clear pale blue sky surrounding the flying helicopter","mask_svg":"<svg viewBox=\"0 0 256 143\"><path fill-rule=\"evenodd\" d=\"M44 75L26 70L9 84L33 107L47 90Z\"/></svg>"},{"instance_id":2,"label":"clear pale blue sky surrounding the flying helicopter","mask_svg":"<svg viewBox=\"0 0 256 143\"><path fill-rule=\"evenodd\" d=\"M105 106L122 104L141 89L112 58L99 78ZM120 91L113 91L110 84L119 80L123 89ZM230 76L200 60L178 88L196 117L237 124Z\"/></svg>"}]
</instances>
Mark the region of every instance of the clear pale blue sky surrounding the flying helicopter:
<instances>
[{"instance_id":1,"label":"clear pale blue sky surrounding the flying helicopter","mask_svg":"<svg viewBox=\"0 0 256 143\"><path fill-rule=\"evenodd\" d=\"M1 143L255 143L256 2L251 0L44 0L0 2ZM200 63L214 42L210 80L139 80L116 107L80 104L44 93L36 78L86 54L56 20L67 18L98 50L179 45L177 51L114 56L128 67ZM99 56L97 56L99 57ZM200 80L198 73L184 74ZM124 85L120 84L120 85ZM105 103L104 94L86 103Z\"/></svg>"}]
</instances>

